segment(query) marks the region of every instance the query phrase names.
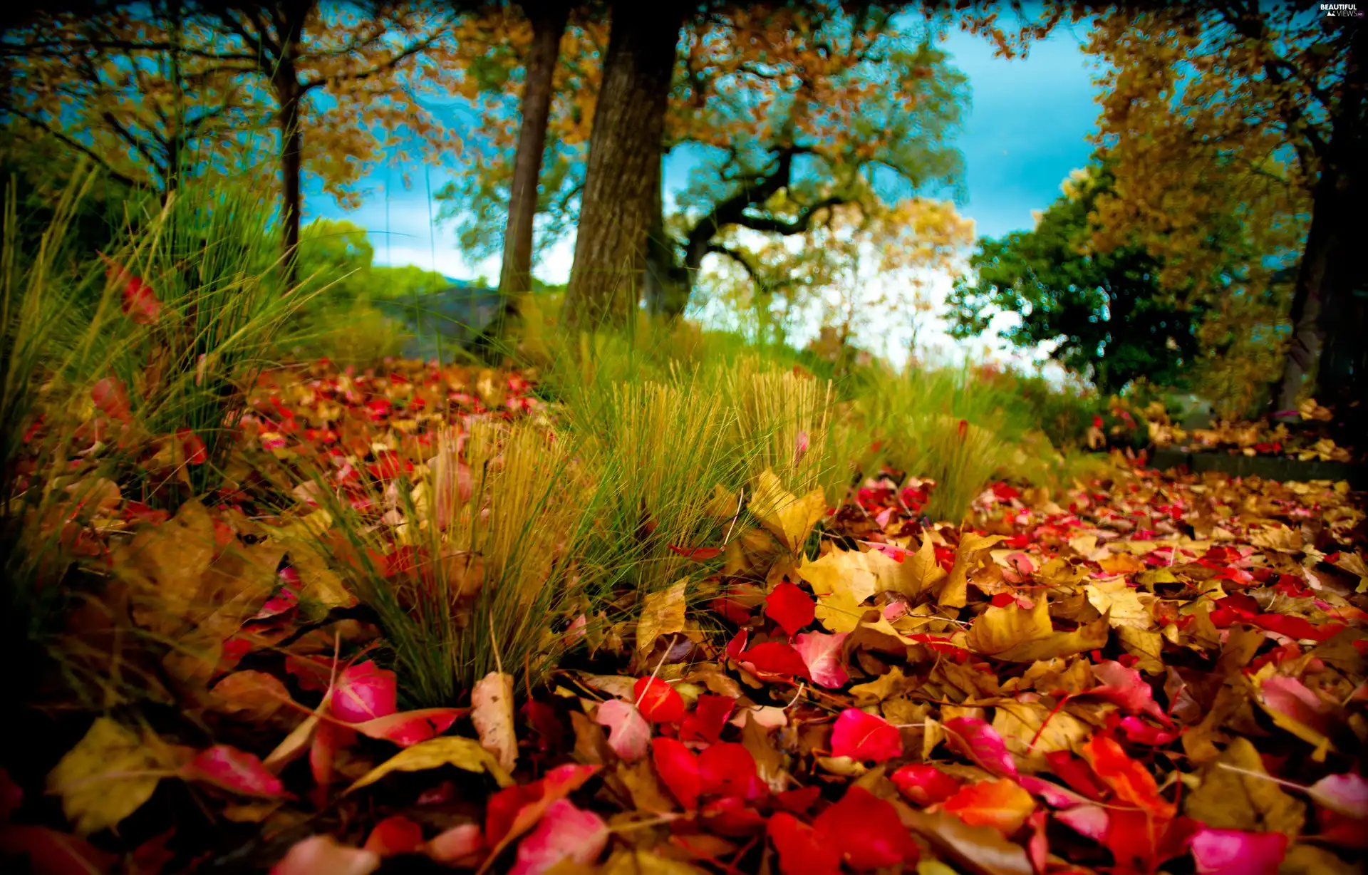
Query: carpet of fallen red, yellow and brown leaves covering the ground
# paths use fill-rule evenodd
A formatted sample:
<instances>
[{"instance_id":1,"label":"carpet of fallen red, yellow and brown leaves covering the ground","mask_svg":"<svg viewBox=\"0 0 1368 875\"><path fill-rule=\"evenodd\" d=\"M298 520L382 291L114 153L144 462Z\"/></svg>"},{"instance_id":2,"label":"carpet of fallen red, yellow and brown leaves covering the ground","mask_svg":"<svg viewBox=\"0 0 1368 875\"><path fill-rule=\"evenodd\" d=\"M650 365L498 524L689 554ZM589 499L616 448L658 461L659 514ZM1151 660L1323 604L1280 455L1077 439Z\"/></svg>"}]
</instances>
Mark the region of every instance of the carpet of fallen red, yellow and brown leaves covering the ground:
<instances>
[{"instance_id":1,"label":"carpet of fallen red, yellow and brown leaves covering the ground","mask_svg":"<svg viewBox=\"0 0 1368 875\"><path fill-rule=\"evenodd\" d=\"M432 454L438 425L543 412L518 375L435 394L410 377L274 375L242 440L282 463L331 454L341 488L383 485ZM434 413L447 405L458 416ZM8 859L127 875L1361 871L1368 566L1345 484L1118 461L1053 494L995 483L960 528L918 513L917 481L866 480L828 507L762 477L758 525L672 546L691 580L602 623L534 618L570 645L544 684L516 689L509 666L453 707L401 708L406 678L346 569L280 536L319 521L308 489L267 500L269 477L233 476L174 513L115 487L78 521L105 582L55 652L105 699L44 681L23 703L0 775ZM395 513L373 510L378 528ZM379 561L416 585L401 541Z\"/></svg>"}]
</instances>

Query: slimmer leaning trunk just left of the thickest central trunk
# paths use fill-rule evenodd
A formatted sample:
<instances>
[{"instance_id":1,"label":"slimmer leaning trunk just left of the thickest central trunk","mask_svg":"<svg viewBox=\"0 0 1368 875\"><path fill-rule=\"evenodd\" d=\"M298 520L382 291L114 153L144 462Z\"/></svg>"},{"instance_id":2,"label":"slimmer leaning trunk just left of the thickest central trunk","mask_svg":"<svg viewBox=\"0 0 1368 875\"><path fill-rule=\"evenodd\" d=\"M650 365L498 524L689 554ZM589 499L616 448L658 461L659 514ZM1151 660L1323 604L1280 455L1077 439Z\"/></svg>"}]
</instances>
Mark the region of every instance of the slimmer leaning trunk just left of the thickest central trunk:
<instances>
[{"instance_id":1,"label":"slimmer leaning trunk just left of the thickest central trunk","mask_svg":"<svg viewBox=\"0 0 1368 875\"><path fill-rule=\"evenodd\" d=\"M532 45L525 63L523 123L518 129L517 154L513 159L509 219L503 231L503 265L499 269L499 294L505 299L506 310L512 309L513 295L532 288L532 219L536 216L536 185L542 175L546 124L551 115L551 77L561 52L561 36L569 19L569 5L564 0L525 0L523 10L532 23Z\"/></svg>"}]
</instances>

